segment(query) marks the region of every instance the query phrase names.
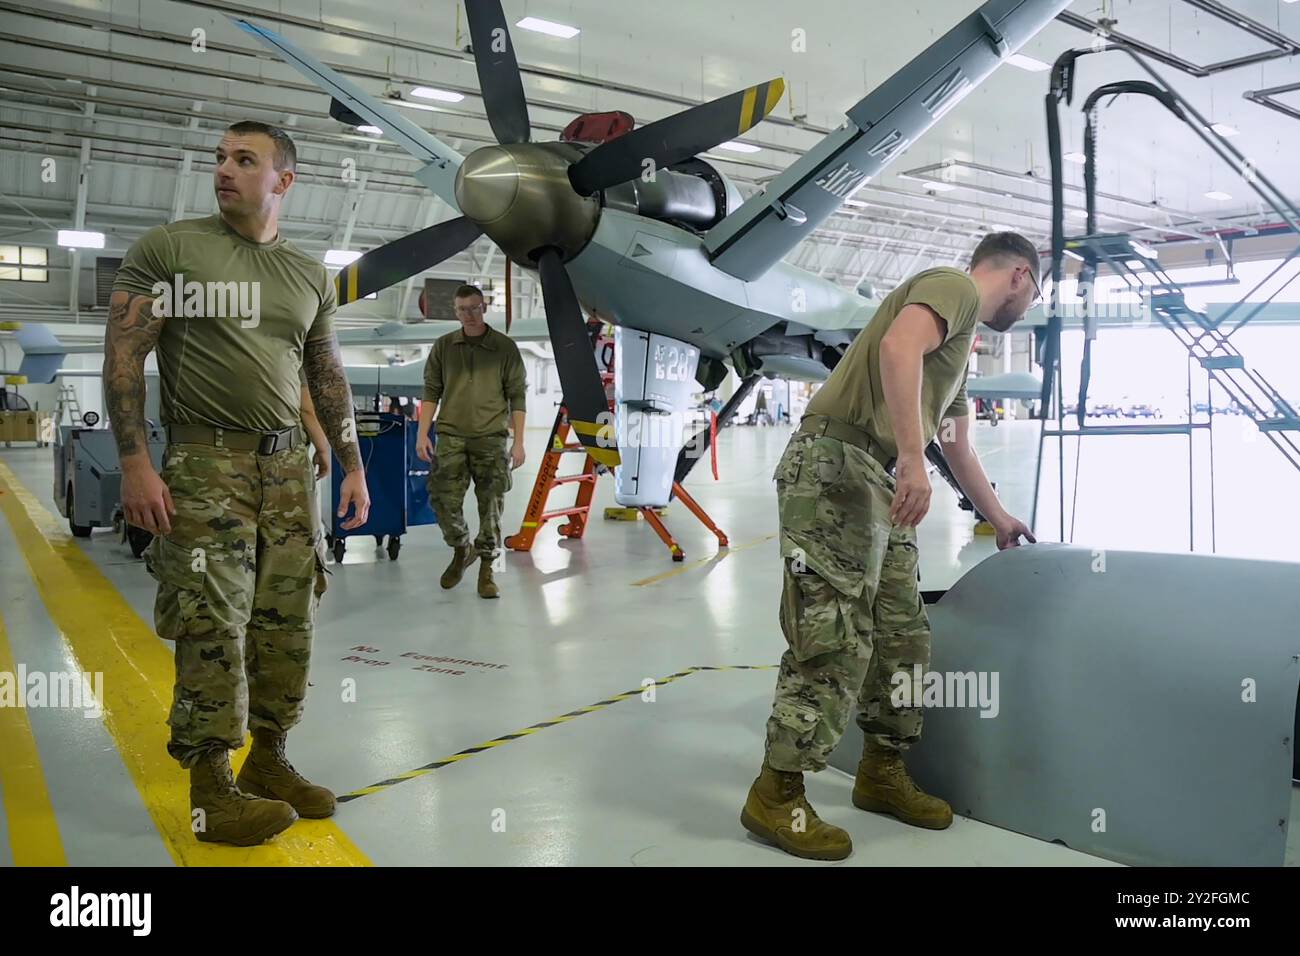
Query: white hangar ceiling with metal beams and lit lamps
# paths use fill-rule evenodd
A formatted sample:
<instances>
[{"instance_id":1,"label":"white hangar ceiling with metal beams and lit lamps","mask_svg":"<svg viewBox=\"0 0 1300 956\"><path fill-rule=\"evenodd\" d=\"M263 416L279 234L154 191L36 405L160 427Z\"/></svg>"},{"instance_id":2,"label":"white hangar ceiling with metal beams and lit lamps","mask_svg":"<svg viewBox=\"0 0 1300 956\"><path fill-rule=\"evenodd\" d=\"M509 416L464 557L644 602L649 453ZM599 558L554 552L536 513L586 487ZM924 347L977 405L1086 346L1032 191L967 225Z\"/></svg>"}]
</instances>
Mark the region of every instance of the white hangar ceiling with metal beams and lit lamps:
<instances>
[{"instance_id":1,"label":"white hangar ceiling with metal beams and lit lamps","mask_svg":"<svg viewBox=\"0 0 1300 956\"><path fill-rule=\"evenodd\" d=\"M710 153L745 194L762 189L974 5L664 0L653 16L638 16L632 4L606 0L504 0L512 23L537 16L581 30L568 40L512 30L538 138L556 138L581 112L627 109L647 122L783 75L786 99L741 138L758 150ZM1225 21L1216 7L1222 4L1080 0L1070 8L1072 25L1053 22L1022 53L1050 62L1066 48L1087 46L1079 25L1098 20L1191 64L1277 51L1254 22L1300 38L1300 3L1231 0L1231 10L1252 18L1249 29ZM220 131L240 118L281 124L295 137L299 182L282 225L313 255L364 251L451 215L411 178L413 160L382 137L330 118L322 94L224 14L259 20L368 91L400 98L412 120L463 152L493 142L465 52L468 30L451 0L382 8L361 0L0 0L0 243L51 247L49 282L0 285L0 317L96 321L86 291L95 255L73 256L53 235L73 224L82 174L86 228L108 234L100 255L121 255L152 225L214 211L211 151ZM1200 78L1167 64L1158 69L1214 122L1235 130L1234 144L1258 157L1288 195L1300 196L1300 164L1290 161L1286 146L1300 126L1247 99L1294 83L1296 60L1283 53ZM793 261L850 287L868 282L888 290L926 265L965 263L994 226L1045 245L1046 75L1004 65L796 250ZM1087 57L1079 90L1086 95L1135 75L1124 53ZM411 95L417 86L464 99L422 100ZM1300 104L1300 94L1277 99ZM1067 151L1082 150L1082 127L1075 112ZM1152 241L1173 241L1271 222L1234 170L1216 165L1153 103L1134 98L1104 111L1101 144L1100 189L1113 196L1102 212L1117 228L1123 222ZM42 177L47 157L56 160L55 182ZM358 172L351 182L341 174L348 163ZM1082 183L1082 166L1067 166ZM74 265L82 273L75 297ZM500 254L482 239L429 274L499 280L500 271ZM533 286L526 277L516 286L525 315L541 310ZM403 284L341 317L344 325L368 325L415 315L412 286Z\"/></svg>"}]
</instances>

